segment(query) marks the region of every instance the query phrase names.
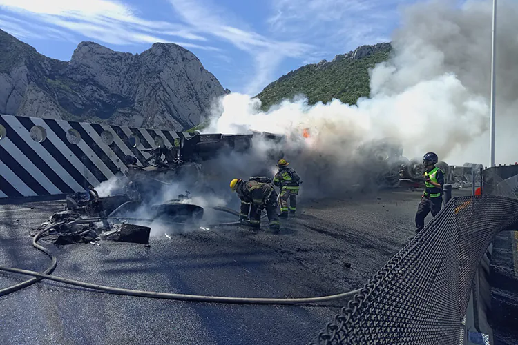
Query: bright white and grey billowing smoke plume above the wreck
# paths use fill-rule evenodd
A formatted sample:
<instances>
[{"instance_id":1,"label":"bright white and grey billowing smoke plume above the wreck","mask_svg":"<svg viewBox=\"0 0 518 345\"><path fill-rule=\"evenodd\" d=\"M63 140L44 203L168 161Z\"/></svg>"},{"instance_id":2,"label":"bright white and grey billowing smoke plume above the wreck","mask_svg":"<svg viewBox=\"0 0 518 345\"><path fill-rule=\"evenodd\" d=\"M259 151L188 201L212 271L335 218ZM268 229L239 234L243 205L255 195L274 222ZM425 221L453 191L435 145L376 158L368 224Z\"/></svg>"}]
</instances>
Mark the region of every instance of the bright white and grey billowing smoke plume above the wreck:
<instances>
[{"instance_id":1,"label":"bright white and grey billowing smoke plume above the wreck","mask_svg":"<svg viewBox=\"0 0 518 345\"><path fill-rule=\"evenodd\" d=\"M371 95L357 106L338 100L308 106L299 99L262 112L258 99L230 94L220 99L205 132L252 129L300 137L309 128L305 155L323 155L334 168L347 166L358 145L383 137L399 139L408 158L433 151L448 164L487 165L491 10L490 1L409 6L393 33L392 57L371 71ZM497 163L517 160L511 142L518 124L512 112L518 101L517 14L517 3L499 1Z\"/></svg>"}]
</instances>

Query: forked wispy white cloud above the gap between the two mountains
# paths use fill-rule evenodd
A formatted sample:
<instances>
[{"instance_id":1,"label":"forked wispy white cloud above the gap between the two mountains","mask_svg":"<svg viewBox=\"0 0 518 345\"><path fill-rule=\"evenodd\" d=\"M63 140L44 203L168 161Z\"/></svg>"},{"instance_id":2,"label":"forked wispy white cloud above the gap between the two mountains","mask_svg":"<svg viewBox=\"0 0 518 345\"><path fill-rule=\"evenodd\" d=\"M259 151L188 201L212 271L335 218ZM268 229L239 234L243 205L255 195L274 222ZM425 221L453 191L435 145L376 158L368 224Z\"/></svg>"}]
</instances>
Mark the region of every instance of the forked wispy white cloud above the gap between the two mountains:
<instances>
[{"instance_id":1,"label":"forked wispy white cloud above the gap between the two mountains","mask_svg":"<svg viewBox=\"0 0 518 345\"><path fill-rule=\"evenodd\" d=\"M227 24L222 9L197 0L170 0L180 17L197 32L209 34L228 41L236 48L247 52L256 63L255 75L245 86L249 95L260 92L286 57L303 57L311 46L295 41L276 41L254 32Z\"/></svg>"}]
</instances>

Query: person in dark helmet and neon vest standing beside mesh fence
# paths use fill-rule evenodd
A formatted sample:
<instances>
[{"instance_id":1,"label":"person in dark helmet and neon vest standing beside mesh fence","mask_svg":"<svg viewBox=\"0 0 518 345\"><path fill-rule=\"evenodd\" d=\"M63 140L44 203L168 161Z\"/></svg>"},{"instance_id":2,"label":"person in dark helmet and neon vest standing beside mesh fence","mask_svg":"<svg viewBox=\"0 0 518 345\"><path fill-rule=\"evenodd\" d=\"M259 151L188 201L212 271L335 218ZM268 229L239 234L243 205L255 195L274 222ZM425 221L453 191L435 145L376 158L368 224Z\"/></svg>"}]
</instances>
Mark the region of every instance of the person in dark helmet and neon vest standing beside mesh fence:
<instances>
[{"instance_id":1,"label":"person in dark helmet and neon vest standing beside mesh fence","mask_svg":"<svg viewBox=\"0 0 518 345\"><path fill-rule=\"evenodd\" d=\"M425 227L425 218L428 213L435 217L443 204L443 170L437 168L438 157L434 152L428 152L423 156L425 166L425 191L421 196L421 202L416 213L416 234Z\"/></svg>"}]
</instances>

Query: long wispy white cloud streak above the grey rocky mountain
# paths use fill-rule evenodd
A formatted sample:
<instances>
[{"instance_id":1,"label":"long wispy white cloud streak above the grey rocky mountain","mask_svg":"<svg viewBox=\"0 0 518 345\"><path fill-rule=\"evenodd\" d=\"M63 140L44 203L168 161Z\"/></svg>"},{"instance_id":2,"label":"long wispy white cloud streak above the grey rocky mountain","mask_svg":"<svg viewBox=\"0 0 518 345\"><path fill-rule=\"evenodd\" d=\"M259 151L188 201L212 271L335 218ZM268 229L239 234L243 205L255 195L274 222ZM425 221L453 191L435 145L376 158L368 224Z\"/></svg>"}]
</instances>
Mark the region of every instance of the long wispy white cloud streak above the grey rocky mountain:
<instances>
[{"instance_id":1,"label":"long wispy white cloud streak above the grey rocky mountain","mask_svg":"<svg viewBox=\"0 0 518 345\"><path fill-rule=\"evenodd\" d=\"M207 41L186 26L164 21L148 21L138 17L137 11L115 0L0 0L0 9L18 14L29 22L40 21L46 28L65 28L90 39L125 45L131 43L177 43L185 48L218 51L218 48L189 42ZM15 18L4 19L2 26L20 37L49 37L48 32L19 28ZM34 28L33 28L34 29Z\"/></svg>"}]
</instances>

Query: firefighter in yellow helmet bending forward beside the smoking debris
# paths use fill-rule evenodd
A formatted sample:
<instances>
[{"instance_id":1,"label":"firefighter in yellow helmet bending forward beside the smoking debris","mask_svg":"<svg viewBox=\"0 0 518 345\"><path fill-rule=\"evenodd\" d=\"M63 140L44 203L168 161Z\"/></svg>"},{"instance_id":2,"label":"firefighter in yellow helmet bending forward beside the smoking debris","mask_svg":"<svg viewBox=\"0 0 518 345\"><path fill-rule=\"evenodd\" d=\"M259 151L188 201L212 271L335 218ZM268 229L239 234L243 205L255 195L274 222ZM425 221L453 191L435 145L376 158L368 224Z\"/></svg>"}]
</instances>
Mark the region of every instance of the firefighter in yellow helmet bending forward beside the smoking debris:
<instances>
[{"instance_id":1,"label":"firefighter in yellow helmet bending forward beside the smoking debris","mask_svg":"<svg viewBox=\"0 0 518 345\"><path fill-rule=\"evenodd\" d=\"M240 221L247 221L250 213L250 226L259 228L261 212L266 209L269 227L272 230L279 229L277 193L271 185L271 179L267 177L251 177L248 181L233 179L230 182L230 188L238 193L241 199Z\"/></svg>"}]
</instances>

